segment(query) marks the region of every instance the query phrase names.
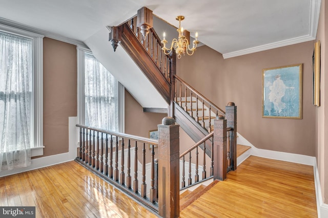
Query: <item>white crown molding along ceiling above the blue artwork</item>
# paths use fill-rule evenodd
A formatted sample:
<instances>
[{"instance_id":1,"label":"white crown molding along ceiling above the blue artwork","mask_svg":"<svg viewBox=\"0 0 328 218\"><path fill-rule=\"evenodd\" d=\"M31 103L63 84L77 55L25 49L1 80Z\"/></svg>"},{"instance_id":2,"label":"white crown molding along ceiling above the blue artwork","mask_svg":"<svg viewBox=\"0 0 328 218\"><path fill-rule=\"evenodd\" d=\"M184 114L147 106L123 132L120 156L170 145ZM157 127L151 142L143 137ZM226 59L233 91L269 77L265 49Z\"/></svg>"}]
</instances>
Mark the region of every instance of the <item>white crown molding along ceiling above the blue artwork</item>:
<instances>
[{"instance_id":1,"label":"white crown molding along ceiling above the blue artwork","mask_svg":"<svg viewBox=\"0 0 328 218\"><path fill-rule=\"evenodd\" d=\"M241 55L248 55L255 52L262 52L265 50L270 49L276 49L277 47L292 45L296 43L306 42L315 40L317 36L317 29L318 29L318 23L319 23L319 15L320 15L320 6L321 6L321 0L311 0L310 3L310 27L309 27L309 34L292 38L292 39L286 39L274 43L259 45L256 47L251 47L249 49L243 49L235 52L229 52L226 54L222 54L224 59L227 58L233 58Z\"/></svg>"}]
</instances>

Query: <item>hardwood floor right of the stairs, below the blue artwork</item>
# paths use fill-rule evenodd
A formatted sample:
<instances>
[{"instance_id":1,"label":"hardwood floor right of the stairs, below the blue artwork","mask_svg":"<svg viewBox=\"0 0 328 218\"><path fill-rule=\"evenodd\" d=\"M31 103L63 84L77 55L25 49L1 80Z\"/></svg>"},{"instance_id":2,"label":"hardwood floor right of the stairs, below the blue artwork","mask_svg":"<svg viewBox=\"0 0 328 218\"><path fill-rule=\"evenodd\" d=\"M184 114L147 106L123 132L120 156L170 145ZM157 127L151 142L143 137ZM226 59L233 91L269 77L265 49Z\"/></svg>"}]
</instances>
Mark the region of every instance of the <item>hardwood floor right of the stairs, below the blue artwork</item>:
<instances>
[{"instance_id":1,"label":"hardwood floor right of the stairs, below the blue artwork","mask_svg":"<svg viewBox=\"0 0 328 218\"><path fill-rule=\"evenodd\" d=\"M317 217L313 166L251 156L180 217Z\"/></svg>"}]
</instances>

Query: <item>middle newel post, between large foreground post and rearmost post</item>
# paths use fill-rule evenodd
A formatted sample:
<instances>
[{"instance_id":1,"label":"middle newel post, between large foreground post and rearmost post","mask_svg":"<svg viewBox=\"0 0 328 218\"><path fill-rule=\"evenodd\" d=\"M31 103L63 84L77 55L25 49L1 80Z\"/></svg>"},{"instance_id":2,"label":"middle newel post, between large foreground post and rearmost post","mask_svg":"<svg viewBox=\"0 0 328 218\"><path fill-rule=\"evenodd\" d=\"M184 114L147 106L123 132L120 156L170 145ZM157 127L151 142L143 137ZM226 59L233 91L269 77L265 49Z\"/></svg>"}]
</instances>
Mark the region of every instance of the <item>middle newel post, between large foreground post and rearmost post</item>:
<instances>
[{"instance_id":1,"label":"middle newel post, between large foreground post and rearmost post","mask_svg":"<svg viewBox=\"0 0 328 218\"><path fill-rule=\"evenodd\" d=\"M214 119L213 179L227 178L227 119L219 115Z\"/></svg>"}]
</instances>

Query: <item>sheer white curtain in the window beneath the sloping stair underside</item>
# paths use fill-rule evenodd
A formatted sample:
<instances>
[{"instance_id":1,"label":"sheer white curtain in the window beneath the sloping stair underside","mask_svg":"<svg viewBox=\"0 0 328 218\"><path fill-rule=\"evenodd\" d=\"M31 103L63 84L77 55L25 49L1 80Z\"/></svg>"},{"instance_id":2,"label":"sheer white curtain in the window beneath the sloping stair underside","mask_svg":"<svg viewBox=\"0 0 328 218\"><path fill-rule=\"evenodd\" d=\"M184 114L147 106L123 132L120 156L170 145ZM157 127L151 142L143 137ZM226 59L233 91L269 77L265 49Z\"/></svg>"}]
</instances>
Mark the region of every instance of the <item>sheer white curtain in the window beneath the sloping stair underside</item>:
<instances>
[{"instance_id":1,"label":"sheer white curtain in the window beneath the sloping stair underside","mask_svg":"<svg viewBox=\"0 0 328 218\"><path fill-rule=\"evenodd\" d=\"M118 82L97 59L85 53L86 125L118 132Z\"/></svg>"}]
</instances>

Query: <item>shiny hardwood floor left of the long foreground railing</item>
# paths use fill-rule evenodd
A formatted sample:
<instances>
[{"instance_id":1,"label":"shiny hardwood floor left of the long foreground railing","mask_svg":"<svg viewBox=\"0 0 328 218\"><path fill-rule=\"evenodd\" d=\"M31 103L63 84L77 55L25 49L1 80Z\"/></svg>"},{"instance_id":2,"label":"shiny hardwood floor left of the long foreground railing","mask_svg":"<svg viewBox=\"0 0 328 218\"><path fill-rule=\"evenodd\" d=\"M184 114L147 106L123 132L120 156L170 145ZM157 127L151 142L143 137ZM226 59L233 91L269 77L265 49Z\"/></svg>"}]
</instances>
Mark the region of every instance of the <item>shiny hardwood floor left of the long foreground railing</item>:
<instances>
[{"instance_id":1,"label":"shiny hardwood floor left of the long foreground railing","mask_svg":"<svg viewBox=\"0 0 328 218\"><path fill-rule=\"evenodd\" d=\"M1 206L36 217L156 217L75 161L0 178Z\"/></svg>"}]
</instances>

